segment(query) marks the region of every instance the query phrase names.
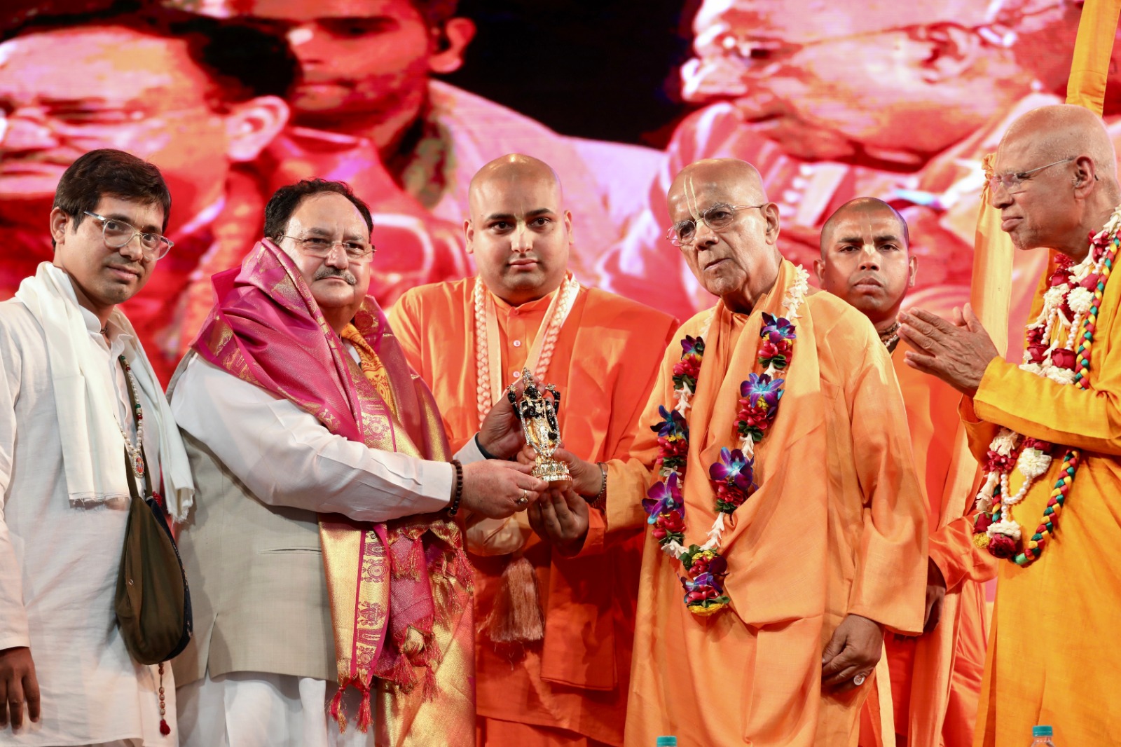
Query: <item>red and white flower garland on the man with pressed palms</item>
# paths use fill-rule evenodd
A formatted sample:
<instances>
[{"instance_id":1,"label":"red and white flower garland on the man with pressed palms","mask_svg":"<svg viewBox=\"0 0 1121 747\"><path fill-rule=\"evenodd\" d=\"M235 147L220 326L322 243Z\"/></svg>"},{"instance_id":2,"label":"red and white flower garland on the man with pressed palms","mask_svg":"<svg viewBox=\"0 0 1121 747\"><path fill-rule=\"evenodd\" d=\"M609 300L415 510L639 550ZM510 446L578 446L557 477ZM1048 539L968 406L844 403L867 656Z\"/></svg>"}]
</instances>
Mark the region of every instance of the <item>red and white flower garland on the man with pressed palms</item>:
<instances>
[{"instance_id":1,"label":"red and white flower garland on the man with pressed palms","mask_svg":"<svg viewBox=\"0 0 1121 747\"><path fill-rule=\"evenodd\" d=\"M1020 368L1056 384L1090 388L1090 353L1097 330L1105 284L1113 270L1121 239L1121 206L1118 206L1096 234L1090 236L1090 251L1075 265L1058 255L1057 268L1048 278L1044 307L1027 328L1027 349ZM1059 345L1063 347L1059 347ZM1077 345L1077 349L1075 349ZM1023 500L1028 489L1050 468L1057 444L1000 428L989 444L984 459L985 478L976 496L980 510L973 524L973 543L995 557L1027 566L1039 560L1047 541L1058 528L1058 516L1074 483L1082 452L1067 449L1063 469L1051 488L1040 524L1025 541L1012 507ZM1023 483L1015 494L1009 477L1016 468Z\"/></svg>"}]
</instances>

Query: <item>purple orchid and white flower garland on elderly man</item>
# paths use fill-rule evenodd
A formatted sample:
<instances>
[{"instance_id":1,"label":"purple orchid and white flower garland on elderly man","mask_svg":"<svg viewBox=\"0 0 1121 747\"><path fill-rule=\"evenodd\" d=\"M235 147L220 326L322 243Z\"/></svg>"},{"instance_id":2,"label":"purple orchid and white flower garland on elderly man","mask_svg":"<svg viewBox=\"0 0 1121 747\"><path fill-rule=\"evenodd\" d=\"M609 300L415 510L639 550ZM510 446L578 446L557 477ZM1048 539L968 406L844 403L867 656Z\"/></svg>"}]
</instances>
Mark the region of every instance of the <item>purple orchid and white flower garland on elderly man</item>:
<instances>
[{"instance_id":1,"label":"purple orchid and white flower garland on elderly man","mask_svg":"<svg viewBox=\"0 0 1121 747\"><path fill-rule=\"evenodd\" d=\"M778 414L785 380L777 375L789 366L794 353L796 334L793 320L798 317L798 310L809 289L808 279L809 274L796 267L794 283L782 301L786 317L775 317L767 312L762 314L761 342L756 358L765 370L762 374L749 374L740 384L741 398L733 433L739 440L739 448L721 449L719 460L708 467L708 479L716 494L716 519L703 545L686 547L682 544L685 541L685 500L682 491L688 460L687 415L701 375L704 336L712 325L715 308L696 338L686 335L682 340L682 358L674 366L674 398L677 405L673 411L659 406L663 419L650 428L658 434L655 468L661 480L647 491L642 507L648 523L654 526L652 534L660 550L680 561L685 571L685 577L680 579L685 588L685 606L694 615L714 615L731 603L724 593L728 561L720 553L721 538L725 520L731 523L735 510L759 488L754 482L754 446L763 440Z\"/></svg>"}]
</instances>

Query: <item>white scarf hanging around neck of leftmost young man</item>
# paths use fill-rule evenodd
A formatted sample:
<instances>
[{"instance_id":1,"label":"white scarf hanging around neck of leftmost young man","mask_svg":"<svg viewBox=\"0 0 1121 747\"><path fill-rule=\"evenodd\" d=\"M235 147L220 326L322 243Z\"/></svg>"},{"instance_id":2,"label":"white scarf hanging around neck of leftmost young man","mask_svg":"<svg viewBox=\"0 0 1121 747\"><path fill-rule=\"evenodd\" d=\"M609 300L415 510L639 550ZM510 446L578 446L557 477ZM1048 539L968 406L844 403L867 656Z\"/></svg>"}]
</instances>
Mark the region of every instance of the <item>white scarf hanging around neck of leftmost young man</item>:
<instances>
[{"instance_id":1,"label":"white scarf hanging around neck of leftmost young man","mask_svg":"<svg viewBox=\"0 0 1121 747\"><path fill-rule=\"evenodd\" d=\"M117 389L103 360L90 354L90 330L70 278L50 262L41 262L34 277L24 278L18 298L43 328L50 362L50 382L58 412L58 435L72 506L101 504L129 496L123 444L118 430ZM124 313L114 308L110 320L131 335L124 348L137 386L156 412L145 412L145 424L159 435L168 511L184 520L195 486L179 428L164 397L156 372ZM154 472L158 483L159 472Z\"/></svg>"}]
</instances>

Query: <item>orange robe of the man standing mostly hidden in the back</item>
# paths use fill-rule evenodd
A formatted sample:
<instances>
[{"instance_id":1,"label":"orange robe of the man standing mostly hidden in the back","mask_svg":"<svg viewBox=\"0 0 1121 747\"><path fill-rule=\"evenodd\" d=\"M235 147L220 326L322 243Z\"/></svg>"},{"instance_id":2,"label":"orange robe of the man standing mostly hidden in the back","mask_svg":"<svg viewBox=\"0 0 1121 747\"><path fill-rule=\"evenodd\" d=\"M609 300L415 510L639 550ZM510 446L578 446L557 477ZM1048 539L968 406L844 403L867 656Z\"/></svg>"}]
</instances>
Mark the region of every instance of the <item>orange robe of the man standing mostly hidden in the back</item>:
<instances>
[{"instance_id":1,"label":"orange robe of the man standing mostly hidden in the back","mask_svg":"<svg viewBox=\"0 0 1121 747\"><path fill-rule=\"evenodd\" d=\"M973 744L981 675L984 671L984 588L997 574L988 553L962 545L960 528L970 526L973 496L951 495L947 485L958 427L958 394L948 384L907 366L900 341L891 356L899 379L915 468L927 496L930 557L946 579L942 621L918 638L887 639L891 695L898 734L910 747L967 747ZM946 528L951 523L958 526ZM980 563L978 563L980 561Z\"/></svg>"}]
</instances>

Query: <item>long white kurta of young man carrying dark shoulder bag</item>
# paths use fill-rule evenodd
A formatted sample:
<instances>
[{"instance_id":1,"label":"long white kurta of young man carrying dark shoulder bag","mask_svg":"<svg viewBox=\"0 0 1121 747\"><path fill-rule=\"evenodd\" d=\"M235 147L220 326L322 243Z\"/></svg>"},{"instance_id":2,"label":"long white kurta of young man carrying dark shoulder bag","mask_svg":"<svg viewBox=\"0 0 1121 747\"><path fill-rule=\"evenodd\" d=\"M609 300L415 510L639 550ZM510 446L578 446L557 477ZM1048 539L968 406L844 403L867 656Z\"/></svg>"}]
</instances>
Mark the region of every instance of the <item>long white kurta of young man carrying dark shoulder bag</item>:
<instances>
[{"instance_id":1,"label":"long white kurta of young man carrying dark shoulder bag","mask_svg":"<svg viewBox=\"0 0 1121 747\"><path fill-rule=\"evenodd\" d=\"M118 416L135 439L118 362L129 335L110 323L106 343L96 316L82 313L89 354L113 370ZM156 407L142 393L141 406ZM157 434L146 431L143 441L156 464ZM120 454L124 470L123 437ZM19 301L0 303L0 649L30 647L43 709L38 723L25 711L19 734L0 730L0 745L177 744L172 667L164 737L155 667L132 662L113 614L128 508L71 506L43 329Z\"/></svg>"}]
</instances>

